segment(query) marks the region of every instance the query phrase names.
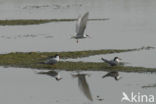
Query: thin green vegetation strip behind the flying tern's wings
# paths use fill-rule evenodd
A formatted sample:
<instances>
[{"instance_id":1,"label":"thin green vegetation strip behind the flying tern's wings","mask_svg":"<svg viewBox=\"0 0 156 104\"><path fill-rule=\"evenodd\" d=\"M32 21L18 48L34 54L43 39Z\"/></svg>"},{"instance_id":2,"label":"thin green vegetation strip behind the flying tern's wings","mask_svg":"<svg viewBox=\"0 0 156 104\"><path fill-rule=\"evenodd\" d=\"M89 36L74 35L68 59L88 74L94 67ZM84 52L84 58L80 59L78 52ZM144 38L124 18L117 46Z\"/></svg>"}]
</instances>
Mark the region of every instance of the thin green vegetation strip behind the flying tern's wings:
<instances>
[{"instance_id":1,"label":"thin green vegetation strip behind the flying tern's wings","mask_svg":"<svg viewBox=\"0 0 156 104\"><path fill-rule=\"evenodd\" d=\"M43 24L49 22L71 22L77 19L15 19L15 20L0 20L0 25L33 25L33 24ZM89 21L100 21L108 20L104 19L89 19Z\"/></svg>"}]
</instances>

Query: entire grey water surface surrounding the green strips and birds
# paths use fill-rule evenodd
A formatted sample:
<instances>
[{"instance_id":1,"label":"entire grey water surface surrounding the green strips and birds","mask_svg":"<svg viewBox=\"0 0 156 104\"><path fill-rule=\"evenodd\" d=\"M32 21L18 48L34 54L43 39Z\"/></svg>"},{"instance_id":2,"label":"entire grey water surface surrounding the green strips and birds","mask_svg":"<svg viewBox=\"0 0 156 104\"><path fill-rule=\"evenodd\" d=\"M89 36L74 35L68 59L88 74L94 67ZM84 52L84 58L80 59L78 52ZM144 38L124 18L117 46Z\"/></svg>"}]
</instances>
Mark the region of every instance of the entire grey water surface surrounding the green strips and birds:
<instances>
[{"instance_id":1,"label":"entire grey water surface surrounding the green strips and birds","mask_svg":"<svg viewBox=\"0 0 156 104\"><path fill-rule=\"evenodd\" d=\"M89 21L86 34L91 38L70 39L75 34L75 22L55 22L40 25L0 26L0 53L16 51L74 51L90 49L127 49L156 46L155 0L1 0L0 19L64 19L77 18L86 11L89 18L109 18ZM101 62L100 58L119 56L130 66L156 67L155 50L93 56L78 61ZM0 68L0 103L2 104L121 104L122 92L128 95L153 94L155 74L120 73L119 81L102 79L106 72L84 72L93 102L78 88L77 78L61 71L63 79L39 75L37 70ZM98 101L97 96L104 98ZM125 104L129 104L125 102ZM144 104L144 103L142 103Z\"/></svg>"}]
</instances>

